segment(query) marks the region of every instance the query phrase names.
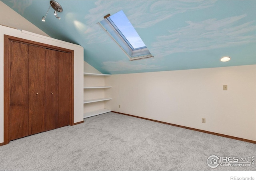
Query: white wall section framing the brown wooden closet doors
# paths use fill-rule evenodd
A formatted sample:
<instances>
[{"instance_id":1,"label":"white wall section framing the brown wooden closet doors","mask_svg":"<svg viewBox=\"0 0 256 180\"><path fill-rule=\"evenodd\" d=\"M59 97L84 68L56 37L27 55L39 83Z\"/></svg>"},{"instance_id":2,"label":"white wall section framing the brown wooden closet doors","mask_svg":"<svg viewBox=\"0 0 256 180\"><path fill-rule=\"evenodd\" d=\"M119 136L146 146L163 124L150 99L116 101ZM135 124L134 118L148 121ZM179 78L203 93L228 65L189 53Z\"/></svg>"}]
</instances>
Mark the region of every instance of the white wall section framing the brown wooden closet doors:
<instances>
[{"instance_id":1,"label":"white wall section framing the brown wooden closet doors","mask_svg":"<svg viewBox=\"0 0 256 180\"><path fill-rule=\"evenodd\" d=\"M83 121L84 49L76 44L0 26L0 143L4 142L4 34L74 50L74 123Z\"/></svg>"}]
</instances>

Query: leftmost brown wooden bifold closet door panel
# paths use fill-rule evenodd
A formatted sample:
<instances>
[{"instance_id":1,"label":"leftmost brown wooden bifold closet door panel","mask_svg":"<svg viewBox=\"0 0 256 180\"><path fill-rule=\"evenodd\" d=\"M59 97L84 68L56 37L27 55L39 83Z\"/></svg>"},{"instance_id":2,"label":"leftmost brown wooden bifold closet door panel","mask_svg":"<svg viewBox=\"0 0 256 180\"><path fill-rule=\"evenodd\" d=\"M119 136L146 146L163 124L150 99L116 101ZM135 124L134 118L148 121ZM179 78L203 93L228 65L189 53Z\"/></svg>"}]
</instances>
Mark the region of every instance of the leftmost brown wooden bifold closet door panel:
<instances>
[{"instance_id":1,"label":"leftmost brown wooden bifold closet door panel","mask_svg":"<svg viewBox=\"0 0 256 180\"><path fill-rule=\"evenodd\" d=\"M9 140L28 136L28 45L9 42Z\"/></svg>"}]
</instances>

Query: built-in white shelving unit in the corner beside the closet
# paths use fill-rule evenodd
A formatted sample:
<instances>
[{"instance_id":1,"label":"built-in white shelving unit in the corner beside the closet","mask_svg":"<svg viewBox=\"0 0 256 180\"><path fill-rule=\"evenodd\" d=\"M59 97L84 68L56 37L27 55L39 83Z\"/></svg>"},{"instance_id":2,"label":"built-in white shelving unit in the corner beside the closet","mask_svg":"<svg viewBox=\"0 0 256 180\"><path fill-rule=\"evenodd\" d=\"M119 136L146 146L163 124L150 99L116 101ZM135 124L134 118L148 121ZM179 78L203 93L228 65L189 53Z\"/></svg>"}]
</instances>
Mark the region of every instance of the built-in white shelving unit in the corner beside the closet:
<instances>
[{"instance_id":1,"label":"built-in white shelving unit in the corner beside the closet","mask_svg":"<svg viewBox=\"0 0 256 180\"><path fill-rule=\"evenodd\" d=\"M84 72L84 84L86 84L84 87L84 118L111 112L104 108L104 103L112 98L102 97L106 89L112 88L112 86L102 86L105 84L106 76L111 76L111 74ZM88 96L93 98L90 99Z\"/></svg>"}]
</instances>

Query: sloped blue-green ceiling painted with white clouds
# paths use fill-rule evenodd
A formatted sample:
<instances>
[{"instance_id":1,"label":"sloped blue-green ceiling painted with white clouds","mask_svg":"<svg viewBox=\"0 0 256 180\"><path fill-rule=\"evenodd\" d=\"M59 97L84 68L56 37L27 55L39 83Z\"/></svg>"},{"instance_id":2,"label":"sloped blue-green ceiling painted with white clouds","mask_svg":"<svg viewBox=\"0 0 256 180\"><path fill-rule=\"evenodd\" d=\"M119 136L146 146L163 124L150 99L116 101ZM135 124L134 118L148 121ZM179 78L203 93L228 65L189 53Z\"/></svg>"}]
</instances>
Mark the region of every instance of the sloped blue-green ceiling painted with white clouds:
<instances>
[{"instance_id":1,"label":"sloped blue-green ceiling painted with white clouds","mask_svg":"<svg viewBox=\"0 0 256 180\"><path fill-rule=\"evenodd\" d=\"M52 38L79 44L84 61L106 74L256 64L255 0L2 0ZM129 61L96 24L126 14L154 58ZM230 56L228 62L220 58Z\"/></svg>"}]
</instances>

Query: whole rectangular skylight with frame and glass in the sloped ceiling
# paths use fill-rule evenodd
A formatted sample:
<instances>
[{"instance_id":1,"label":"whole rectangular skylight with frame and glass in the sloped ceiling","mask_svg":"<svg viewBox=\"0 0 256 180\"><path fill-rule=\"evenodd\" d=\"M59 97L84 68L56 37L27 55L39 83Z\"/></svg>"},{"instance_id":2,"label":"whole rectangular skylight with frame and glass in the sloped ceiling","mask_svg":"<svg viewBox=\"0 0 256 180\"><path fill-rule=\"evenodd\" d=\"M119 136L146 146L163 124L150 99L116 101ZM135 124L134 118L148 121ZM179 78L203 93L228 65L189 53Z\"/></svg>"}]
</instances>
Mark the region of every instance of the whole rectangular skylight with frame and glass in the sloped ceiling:
<instances>
[{"instance_id":1,"label":"whole rectangular skylight with frame and glass in the sloped ceiling","mask_svg":"<svg viewBox=\"0 0 256 180\"><path fill-rule=\"evenodd\" d=\"M122 48L130 60L153 57L122 10L97 24Z\"/></svg>"}]
</instances>

